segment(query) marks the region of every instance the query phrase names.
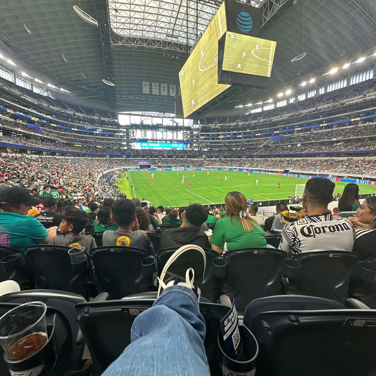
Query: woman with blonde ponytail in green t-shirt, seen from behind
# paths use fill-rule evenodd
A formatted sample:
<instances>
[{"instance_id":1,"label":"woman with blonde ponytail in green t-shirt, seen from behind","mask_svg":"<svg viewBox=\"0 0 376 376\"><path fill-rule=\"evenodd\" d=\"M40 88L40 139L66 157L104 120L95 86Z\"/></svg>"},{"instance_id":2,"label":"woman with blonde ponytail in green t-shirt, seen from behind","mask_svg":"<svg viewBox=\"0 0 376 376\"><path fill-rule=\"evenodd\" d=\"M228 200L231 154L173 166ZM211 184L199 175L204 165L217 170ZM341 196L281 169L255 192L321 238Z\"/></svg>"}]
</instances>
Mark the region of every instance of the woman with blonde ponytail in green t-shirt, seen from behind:
<instances>
[{"instance_id":1,"label":"woman with blonde ponytail in green t-shirt, seen from behind","mask_svg":"<svg viewBox=\"0 0 376 376\"><path fill-rule=\"evenodd\" d=\"M241 192L229 192L225 198L226 216L221 218L214 229L210 241L212 249L227 250L266 247L265 232L261 226L247 214L247 199Z\"/></svg>"}]
</instances>

